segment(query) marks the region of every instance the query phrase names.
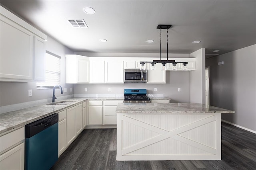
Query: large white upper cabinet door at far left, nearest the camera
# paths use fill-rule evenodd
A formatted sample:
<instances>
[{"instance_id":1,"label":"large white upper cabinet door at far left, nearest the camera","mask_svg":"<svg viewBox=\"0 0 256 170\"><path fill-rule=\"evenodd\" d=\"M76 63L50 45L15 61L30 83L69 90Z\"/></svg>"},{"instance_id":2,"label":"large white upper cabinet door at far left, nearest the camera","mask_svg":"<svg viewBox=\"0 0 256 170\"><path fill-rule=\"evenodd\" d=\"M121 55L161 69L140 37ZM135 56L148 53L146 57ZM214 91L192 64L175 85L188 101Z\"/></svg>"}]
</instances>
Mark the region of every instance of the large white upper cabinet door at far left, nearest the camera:
<instances>
[{"instance_id":1,"label":"large white upper cabinet door at far left, nearest the camera","mask_svg":"<svg viewBox=\"0 0 256 170\"><path fill-rule=\"evenodd\" d=\"M33 34L1 15L0 78L33 79Z\"/></svg>"}]
</instances>

